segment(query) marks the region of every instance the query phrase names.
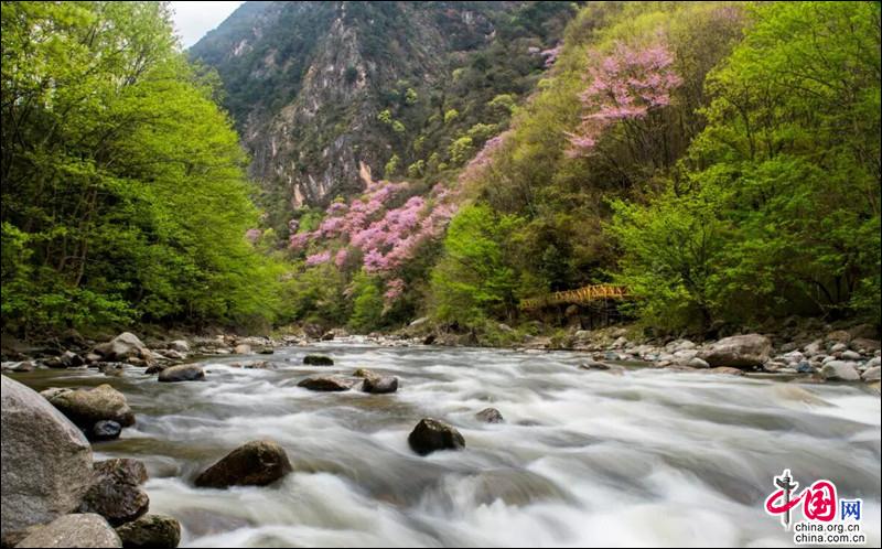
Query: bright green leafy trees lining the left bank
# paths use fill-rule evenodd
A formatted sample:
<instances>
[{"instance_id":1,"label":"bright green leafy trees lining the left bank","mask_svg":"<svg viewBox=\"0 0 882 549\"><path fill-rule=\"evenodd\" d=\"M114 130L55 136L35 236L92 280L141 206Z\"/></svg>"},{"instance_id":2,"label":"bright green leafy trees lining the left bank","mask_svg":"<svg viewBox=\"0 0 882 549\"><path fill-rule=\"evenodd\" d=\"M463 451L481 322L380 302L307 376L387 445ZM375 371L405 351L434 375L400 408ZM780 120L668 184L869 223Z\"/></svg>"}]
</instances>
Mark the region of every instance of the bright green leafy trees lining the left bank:
<instances>
[{"instance_id":1,"label":"bright green leafy trees lining the left bank","mask_svg":"<svg viewBox=\"0 0 882 549\"><path fill-rule=\"evenodd\" d=\"M276 316L245 154L165 4L4 3L2 52L4 329Z\"/></svg>"}]
</instances>

